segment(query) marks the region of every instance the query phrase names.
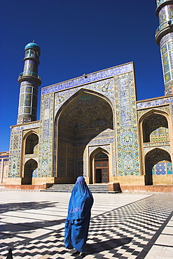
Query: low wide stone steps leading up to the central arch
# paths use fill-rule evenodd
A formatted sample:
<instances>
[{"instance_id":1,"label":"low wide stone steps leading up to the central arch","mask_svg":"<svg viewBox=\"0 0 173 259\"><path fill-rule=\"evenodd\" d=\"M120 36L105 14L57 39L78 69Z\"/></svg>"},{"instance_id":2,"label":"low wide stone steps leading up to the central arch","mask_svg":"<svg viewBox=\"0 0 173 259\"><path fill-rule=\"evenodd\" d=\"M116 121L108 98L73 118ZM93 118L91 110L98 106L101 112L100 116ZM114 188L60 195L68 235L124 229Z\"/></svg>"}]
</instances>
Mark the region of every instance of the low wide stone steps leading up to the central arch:
<instances>
[{"instance_id":1,"label":"low wide stone steps leading up to the central arch","mask_svg":"<svg viewBox=\"0 0 173 259\"><path fill-rule=\"evenodd\" d=\"M116 192L109 192L109 185L108 184L88 184L90 191L92 193L119 193L120 191ZM74 188L74 184L53 184L46 190L46 192L62 192L62 193L71 193L71 190Z\"/></svg>"}]
</instances>

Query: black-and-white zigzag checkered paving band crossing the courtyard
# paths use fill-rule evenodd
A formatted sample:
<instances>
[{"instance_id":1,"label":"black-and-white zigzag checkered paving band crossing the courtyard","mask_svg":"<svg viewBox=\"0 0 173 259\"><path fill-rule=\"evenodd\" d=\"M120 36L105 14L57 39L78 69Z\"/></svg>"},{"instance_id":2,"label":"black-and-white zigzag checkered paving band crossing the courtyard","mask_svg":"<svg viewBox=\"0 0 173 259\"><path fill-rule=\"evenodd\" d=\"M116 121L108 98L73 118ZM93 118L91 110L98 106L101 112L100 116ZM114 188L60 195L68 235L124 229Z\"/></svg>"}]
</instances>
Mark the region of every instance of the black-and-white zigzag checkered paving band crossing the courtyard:
<instances>
[{"instance_id":1,"label":"black-and-white zigzag checkered paving band crossing the courtyard","mask_svg":"<svg viewBox=\"0 0 173 259\"><path fill-rule=\"evenodd\" d=\"M172 195L151 195L118 209L92 217L85 258L145 258L153 241L172 214ZM62 224L63 220L59 221ZM58 221L56 221L58 223ZM51 222L46 222L47 228ZM20 226L20 225L19 225ZM64 228L31 239L1 233L1 258L7 248L13 258L81 258L64 248Z\"/></svg>"}]
</instances>

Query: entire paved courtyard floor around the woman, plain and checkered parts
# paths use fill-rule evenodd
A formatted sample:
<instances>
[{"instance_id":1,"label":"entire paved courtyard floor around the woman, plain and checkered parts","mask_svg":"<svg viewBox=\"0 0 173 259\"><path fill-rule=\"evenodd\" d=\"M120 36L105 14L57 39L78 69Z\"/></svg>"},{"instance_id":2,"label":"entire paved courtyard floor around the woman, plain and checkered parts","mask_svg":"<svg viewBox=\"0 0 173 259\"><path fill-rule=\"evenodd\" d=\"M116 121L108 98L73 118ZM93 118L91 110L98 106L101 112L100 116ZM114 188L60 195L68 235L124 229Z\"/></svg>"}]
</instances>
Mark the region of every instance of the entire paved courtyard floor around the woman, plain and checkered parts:
<instances>
[{"instance_id":1,"label":"entire paved courtyard floor around the woman, plain and checkered parts","mask_svg":"<svg viewBox=\"0 0 173 259\"><path fill-rule=\"evenodd\" d=\"M0 259L81 258L64 248L70 193L1 190ZM173 258L172 194L93 194L85 258Z\"/></svg>"}]
</instances>

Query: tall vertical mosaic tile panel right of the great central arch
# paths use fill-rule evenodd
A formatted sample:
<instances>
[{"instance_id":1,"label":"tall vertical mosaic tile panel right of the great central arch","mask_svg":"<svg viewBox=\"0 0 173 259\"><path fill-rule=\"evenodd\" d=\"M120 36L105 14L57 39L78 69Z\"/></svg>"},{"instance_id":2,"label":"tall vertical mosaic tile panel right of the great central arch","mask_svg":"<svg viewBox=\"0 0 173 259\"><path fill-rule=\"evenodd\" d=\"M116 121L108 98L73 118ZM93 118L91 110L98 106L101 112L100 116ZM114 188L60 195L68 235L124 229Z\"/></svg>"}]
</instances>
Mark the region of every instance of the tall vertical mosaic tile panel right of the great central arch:
<instances>
[{"instance_id":1,"label":"tall vertical mosaic tile panel right of the great central arch","mask_svg":"<svg viewBox=\"0 0 173 259\"><path fill-rule=\"evenodd\" d=\"M137 111L133 72L115 77L118 174L139 174Z\"/></svg>"}]
</instances>

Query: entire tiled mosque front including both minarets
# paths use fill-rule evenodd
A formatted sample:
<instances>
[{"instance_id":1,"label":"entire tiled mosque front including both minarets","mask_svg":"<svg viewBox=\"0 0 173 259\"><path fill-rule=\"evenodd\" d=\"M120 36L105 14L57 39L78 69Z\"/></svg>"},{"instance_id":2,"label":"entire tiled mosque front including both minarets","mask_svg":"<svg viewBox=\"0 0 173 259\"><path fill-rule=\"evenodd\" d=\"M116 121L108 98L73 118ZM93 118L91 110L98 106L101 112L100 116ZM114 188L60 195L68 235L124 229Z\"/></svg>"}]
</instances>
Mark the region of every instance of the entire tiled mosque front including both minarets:
<instances>
[{"instance_id":1,"label":"entire tiled mosque front including both minarets","mask_svg":"<svg viewBox=\"0 0 173 259\"><path fill-rule=\"evenodd\" d=\"M74 183L84 176L92 184L173 184L173 1L156 3L162 97L137 101L130 62L43 87L36 120L41 50L34 42L25 46L18 121L9 154L0 155L1 183Z\"/></svg>"}]
</instances>

